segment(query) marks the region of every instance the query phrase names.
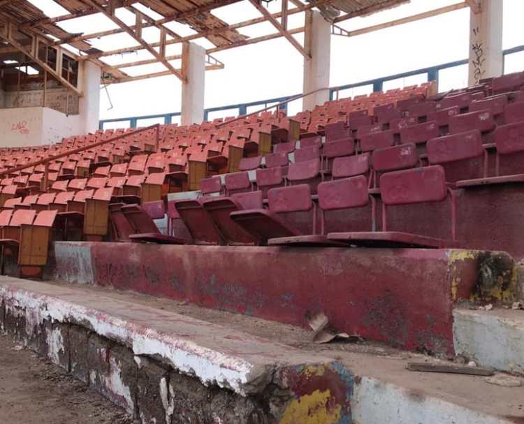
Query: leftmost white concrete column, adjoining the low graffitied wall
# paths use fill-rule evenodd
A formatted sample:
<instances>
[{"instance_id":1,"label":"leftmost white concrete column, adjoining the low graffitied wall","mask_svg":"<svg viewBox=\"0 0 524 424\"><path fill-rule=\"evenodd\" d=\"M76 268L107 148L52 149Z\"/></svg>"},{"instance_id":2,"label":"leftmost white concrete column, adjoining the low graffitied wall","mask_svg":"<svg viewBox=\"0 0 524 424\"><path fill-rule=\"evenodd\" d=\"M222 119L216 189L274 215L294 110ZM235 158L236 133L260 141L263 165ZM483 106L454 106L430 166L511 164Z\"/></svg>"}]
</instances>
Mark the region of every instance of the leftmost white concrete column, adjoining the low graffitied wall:
<instances>
[{"instance_id":1,"label":"leftmost white concrete column, adjoining the low graffitied wall","mask_svg":"<svg viewBox=\"0 0 524 424\"><path fill-rule=\"evenodd\" d=\"M80 75L82 97L79 105L79 129L94 133L99 129L101 68L92 61L84 61Z\"/></svg>"}]
</instances>

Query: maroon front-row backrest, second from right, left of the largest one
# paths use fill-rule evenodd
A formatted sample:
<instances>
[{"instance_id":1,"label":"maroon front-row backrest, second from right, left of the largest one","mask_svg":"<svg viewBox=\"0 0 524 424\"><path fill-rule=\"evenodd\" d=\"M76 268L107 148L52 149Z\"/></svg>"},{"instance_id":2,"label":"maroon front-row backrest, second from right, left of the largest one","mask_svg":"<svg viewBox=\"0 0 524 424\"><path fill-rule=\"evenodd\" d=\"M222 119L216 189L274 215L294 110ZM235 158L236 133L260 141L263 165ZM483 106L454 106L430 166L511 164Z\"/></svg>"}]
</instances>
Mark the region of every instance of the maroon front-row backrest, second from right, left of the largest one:
<instances>
[{"instance_id":1,"label":"maroon front-row backrest, second from right, left of the largest one","mask_svg":"<svg viewBox=\"0 0 524 424\"><path fill-rule=\"evenodd\" d=\"M317 189L322 210L361 207L369 202L367 179L363 175L321 182Z\"/></svg>"}]
</instances>

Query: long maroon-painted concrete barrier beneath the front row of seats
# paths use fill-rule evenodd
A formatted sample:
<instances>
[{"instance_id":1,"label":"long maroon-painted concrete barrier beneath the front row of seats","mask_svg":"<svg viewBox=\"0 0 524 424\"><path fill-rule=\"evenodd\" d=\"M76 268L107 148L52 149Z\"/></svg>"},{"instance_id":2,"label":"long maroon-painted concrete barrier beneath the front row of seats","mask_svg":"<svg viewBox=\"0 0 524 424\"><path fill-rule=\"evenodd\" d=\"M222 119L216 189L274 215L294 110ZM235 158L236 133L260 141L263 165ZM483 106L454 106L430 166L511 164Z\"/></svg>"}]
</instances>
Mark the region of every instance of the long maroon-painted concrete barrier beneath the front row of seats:
<instances>
[{"instance_id":1,"label":"long maroon-painted concrete barrier beneath the front row of seats","mask_svg":"<svg viewBox=\"0 0 524 424\"><path fill-rule=\"evenodd\" d=\"M454 354L453 305L511 301L516 286L507 254L453 249L56 242L51 268L55 279L298 326L323 312L338 330L444 356Z\"/></svg>"}]
</instances>

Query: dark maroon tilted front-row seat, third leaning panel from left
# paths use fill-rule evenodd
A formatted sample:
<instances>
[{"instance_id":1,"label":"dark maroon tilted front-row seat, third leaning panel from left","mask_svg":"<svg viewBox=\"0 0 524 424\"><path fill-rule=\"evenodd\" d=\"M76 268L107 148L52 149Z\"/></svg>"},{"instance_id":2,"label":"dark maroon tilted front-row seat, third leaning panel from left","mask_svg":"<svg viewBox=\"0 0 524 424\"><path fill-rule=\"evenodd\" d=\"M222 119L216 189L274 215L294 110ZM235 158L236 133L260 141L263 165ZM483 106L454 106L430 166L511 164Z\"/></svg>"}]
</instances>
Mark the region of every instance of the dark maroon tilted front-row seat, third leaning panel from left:
<instances>
[{"instance_id":1,"label":"dark maroon tilted front-row seat, third leaning panel from left","mask_svg":"<svg viewBox=\"0 0 524 424\"><path fill-rule=\"evenodd\" d=\"M222 244L221 234L202 202L203 199L175 200L174 206L195 244Z\"/></svg>"}]
</instances>

